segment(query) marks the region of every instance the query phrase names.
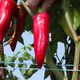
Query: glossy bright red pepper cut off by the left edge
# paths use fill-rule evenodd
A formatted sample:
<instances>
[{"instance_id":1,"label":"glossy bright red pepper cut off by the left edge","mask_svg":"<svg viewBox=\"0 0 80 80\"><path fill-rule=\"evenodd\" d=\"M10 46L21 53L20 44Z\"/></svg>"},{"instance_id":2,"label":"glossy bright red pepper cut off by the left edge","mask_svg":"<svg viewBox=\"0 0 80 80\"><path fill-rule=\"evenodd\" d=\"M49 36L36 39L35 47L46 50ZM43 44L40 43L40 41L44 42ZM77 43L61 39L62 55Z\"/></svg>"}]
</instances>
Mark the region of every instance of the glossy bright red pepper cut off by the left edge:
<instances>
[{"instance_id":1,"label":"glossy bright red pepper cut off by the left edge","mask_svg":"<svg viewBox=\"0 0 80 80\"><path fill-rule=\"evenodd\" d=\"M13 0L0 1L0 41L3 41L10 27L10 19L15 7L16 3Z\"/></svg>"}]
</instances>

